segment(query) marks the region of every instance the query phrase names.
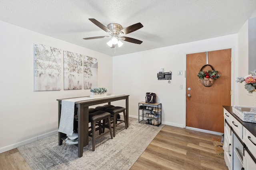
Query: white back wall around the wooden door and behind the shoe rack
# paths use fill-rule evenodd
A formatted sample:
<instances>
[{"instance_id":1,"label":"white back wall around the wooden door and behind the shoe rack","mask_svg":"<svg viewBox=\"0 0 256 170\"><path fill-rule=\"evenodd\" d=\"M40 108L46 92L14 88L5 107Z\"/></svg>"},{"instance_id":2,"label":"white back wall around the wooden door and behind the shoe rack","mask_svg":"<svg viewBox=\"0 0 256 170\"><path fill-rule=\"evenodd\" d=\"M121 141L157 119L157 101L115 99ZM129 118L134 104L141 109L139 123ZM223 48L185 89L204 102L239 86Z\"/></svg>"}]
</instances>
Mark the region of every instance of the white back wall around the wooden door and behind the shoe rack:
<instances>
[{"instance_id":1,"label":"white back wall around the wooden door and behind the shoe rack","mask_svg":"<svg viewBox=\"0 0 256 170\"><path fill-rule=\"evenodd\" d=\"M113 57L113 92L130 95L129 115L133 117L138 117L138 102L145 101L145 93L154 92L157 102L162 103L163 123L185 127L186 54L232 48L234 69L238 57L237 41L238 35L233 34ZM168 84L168 80L157 79L160 68L164 68L166 72L172 71L171 84ZM182 76L177 75L180 70L183 72ZM234 77L233 70L232 76ZM180 85L183 86L182 90L179 89Z\"/></svg>"}]
</instances>

